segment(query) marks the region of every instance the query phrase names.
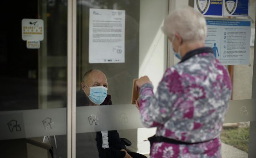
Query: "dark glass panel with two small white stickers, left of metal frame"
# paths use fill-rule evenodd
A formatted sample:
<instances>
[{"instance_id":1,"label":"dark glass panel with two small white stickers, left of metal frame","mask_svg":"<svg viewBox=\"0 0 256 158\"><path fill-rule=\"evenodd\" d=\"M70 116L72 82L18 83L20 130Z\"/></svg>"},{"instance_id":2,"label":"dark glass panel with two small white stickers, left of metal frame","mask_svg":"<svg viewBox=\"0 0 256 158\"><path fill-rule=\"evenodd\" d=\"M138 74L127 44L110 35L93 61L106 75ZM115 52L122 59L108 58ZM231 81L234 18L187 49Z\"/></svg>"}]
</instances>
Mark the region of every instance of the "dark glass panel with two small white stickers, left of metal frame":
<instances>
[{"instance_id":1,"label":"dark glass panel with two small white stickers, left of metal frame","mask_svg":"<svg viewBox=\"0 0 256 158\"><path fill-rule=\"evenodd\" d=\"M1 157L50 158L57 135L66 134L67 3L4 0L1 6L2 15L15 15L1 22Z\"/></svg>"}]
</instances>

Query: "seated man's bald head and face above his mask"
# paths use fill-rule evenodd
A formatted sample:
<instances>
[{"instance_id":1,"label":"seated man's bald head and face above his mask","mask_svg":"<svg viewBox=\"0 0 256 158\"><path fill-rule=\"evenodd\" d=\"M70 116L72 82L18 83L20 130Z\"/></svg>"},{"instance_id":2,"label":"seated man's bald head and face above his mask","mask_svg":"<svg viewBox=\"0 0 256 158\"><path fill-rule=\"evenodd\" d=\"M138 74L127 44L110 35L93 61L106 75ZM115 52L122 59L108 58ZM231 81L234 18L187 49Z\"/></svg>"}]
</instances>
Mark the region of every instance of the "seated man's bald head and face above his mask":
<instances>
[{"instance_id":1,"label":"seated man's bald head and face above his mask","mask_svg":"<svg viewBox=\"0 0 256 158\"><path fill-rule=\"evenodd\" d=\"M90 89L88 87L96 87L96 86L104 86L106 88L108 88L108 81L106 78L106 75L99 71L99 70L93 70L86 81L83 81L81 86L82 89L84 90L84 92L86 93L87 96L90 95Z\"/></svg>"}]
</instances>

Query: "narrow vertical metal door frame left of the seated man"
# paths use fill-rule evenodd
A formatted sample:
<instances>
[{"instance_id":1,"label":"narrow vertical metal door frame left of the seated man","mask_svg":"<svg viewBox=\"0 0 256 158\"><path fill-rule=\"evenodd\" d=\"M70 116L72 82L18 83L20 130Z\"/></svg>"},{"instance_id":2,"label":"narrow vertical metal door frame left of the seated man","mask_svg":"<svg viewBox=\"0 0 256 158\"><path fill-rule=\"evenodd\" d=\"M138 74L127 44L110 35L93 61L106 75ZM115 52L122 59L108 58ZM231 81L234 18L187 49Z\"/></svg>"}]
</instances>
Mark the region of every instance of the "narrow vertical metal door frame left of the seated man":
<instances>
[{"instance_id":1,"label":"narrow vertical metal door frame left of the seated man","mask_svg":"<svg viewBox=\"0 0 256 158\"><path fill-rule=\"evenodd\" d=\"M67 157L76 157L76 0L68 0Z\"/></svg>"}]
</instances>

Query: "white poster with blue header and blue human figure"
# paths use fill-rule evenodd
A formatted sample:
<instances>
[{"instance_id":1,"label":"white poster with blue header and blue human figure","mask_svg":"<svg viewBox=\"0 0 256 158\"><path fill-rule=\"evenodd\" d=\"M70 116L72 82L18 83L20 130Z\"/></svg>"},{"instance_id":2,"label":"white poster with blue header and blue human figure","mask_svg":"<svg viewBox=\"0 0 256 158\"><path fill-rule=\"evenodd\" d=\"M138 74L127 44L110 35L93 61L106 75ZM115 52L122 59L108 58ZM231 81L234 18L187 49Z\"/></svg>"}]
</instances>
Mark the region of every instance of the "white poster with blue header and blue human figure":
<instances>
[{"instance_id":1,"label":"white poster with blue header and blue human figure","mask_svg":"<svg viewBox=\"0 0 256 158\"><path fill-rule=\"evenodd\" d=\"M206 18L205 45L224 65L249 64L251 21Z\"/></svg>"}]
</instances>

